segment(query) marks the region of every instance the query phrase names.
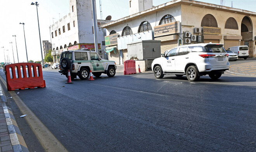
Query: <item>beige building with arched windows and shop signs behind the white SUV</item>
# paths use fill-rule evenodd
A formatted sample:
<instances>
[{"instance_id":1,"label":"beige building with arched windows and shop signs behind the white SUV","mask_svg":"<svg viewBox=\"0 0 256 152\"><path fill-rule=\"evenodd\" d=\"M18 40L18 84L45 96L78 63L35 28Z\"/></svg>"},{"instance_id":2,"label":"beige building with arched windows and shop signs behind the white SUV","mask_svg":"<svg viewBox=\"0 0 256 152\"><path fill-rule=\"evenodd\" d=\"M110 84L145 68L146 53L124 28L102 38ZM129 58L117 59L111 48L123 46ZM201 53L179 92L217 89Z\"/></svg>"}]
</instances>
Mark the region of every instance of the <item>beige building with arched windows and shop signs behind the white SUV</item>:
<instances>
[{"instance_id":1,"label":"beige building with arched windows and shop signs behind the white SUV","mask_svg":"<svg viewBox=\"0 0 256 152\"><path fill-rule=\"evenodd\" d=\"M130 12L134 12L133 1L139 0L129 1ZM141 10L137 5L135 9ZM101 26L107 29L106 50L117 49L116 53L109 52L109 60L123 64L128 43L149 39L161 40L161 53L178 45L212 42L223 43L225 49L247 45L249 57L256 57L255 12L194 0L173 0L134 13ZM150 31L151 37L143 37Z\"/></svg>"}]
</instances>

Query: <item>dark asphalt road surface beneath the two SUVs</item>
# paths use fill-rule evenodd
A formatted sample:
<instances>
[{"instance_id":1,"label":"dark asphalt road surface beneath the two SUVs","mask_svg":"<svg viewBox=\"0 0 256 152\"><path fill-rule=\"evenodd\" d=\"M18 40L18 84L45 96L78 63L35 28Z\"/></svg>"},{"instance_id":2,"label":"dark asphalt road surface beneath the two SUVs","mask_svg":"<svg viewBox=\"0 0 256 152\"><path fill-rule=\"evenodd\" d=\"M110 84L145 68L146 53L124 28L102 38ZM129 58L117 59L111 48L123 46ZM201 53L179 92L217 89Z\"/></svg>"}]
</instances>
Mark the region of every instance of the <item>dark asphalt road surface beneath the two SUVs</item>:
<instances>
[{"instance_id":1,"label":"dark asphalt road surface beneath the two SUVs","mask_svg":"<svg viewBox=\"0 0 256 152\"><path fill-rule=\"evenodd\" d=\"M256 150L255 77L117 73L65 84L47 68L43 78L47 87L16 92L70 152Z\"/></svg>"}]
</instances>

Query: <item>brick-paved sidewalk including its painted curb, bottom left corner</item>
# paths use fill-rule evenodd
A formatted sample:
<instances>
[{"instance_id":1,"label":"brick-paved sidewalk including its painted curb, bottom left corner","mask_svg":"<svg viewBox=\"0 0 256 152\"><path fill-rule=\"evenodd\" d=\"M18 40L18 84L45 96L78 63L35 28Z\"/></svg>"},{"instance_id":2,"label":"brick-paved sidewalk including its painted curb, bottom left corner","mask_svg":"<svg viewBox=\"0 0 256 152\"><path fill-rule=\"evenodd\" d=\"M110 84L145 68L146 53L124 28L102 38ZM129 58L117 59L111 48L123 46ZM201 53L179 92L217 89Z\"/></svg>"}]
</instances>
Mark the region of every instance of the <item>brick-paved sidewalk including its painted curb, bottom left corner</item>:
<instances>
[{"instance_id":1,"label":"brick-paved sidewalk including its painted curb, bottom left corner","mask_svg":"<svg viewBox=\"0 0 256 152\"><path fill-rule=\"evenodd\" d=\"M0 152L29 152L0 84Z\"/></svg>"}]
</instances>

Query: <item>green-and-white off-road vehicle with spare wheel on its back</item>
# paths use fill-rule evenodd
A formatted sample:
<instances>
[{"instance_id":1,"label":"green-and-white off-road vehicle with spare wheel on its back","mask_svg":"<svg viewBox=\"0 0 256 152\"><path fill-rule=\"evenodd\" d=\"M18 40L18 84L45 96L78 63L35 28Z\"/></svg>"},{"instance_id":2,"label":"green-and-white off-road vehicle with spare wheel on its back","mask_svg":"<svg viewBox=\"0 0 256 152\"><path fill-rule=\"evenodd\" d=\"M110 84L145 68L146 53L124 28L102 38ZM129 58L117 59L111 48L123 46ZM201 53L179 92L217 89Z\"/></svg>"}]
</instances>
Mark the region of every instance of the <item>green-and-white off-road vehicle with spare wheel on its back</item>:
<instances>
[{"instance_id":1,"label":"green-and-white off-road vehicle with spare wheel on its back","mask_svg":"<svg viewBox=\"0 0 256 152\"><path fill-rule=\"evenodd\" d=\"M95 77L100 77L102 73L109 77L116 74L115 61L102 60L95 51L84 49L62 52L59 67L59 72L66 77L70 70L71 79L78 75L80 79L86 80L90 76L90 70Z\"/></svg>"}]
</instances>

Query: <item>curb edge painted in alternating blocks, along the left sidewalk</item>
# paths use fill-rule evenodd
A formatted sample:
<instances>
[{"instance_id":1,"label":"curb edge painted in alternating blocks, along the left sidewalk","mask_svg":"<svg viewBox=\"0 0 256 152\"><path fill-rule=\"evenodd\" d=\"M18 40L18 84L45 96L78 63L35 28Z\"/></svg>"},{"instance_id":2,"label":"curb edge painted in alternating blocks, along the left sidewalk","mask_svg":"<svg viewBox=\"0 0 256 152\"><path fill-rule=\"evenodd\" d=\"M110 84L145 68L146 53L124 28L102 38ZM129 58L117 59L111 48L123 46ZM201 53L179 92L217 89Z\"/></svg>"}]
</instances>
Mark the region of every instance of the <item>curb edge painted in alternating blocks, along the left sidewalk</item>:
<instances>
[{"instance_id":1,"label":"curb edge painted in alternating blocks, along the left sidewalk","mask_svg":"<svg viewBox=\"0 0 256 152\"><path fill-rule=\"evenodd\" d=\"M24 141L24 138L21 134L21 131L19 130L19 127L16 123L16 120L14 118L12 110L9 107L7 107L5 104L5 102L7 102L7 100L6 100L6 96L3 95L1 84L0 84L0 96L1 96L1 101L2 101L3 113L5 116L5 122L7 125L7 130L9 132L10 142L12 145L12 150L10 150L10 151L29 152L28 147L27 147L27 145ZM2 151L3 151L3 149L2 149Z\"/></svg>"}]
</instances>

